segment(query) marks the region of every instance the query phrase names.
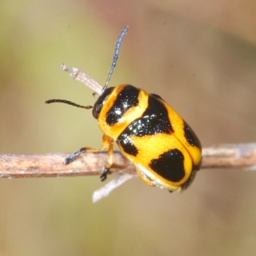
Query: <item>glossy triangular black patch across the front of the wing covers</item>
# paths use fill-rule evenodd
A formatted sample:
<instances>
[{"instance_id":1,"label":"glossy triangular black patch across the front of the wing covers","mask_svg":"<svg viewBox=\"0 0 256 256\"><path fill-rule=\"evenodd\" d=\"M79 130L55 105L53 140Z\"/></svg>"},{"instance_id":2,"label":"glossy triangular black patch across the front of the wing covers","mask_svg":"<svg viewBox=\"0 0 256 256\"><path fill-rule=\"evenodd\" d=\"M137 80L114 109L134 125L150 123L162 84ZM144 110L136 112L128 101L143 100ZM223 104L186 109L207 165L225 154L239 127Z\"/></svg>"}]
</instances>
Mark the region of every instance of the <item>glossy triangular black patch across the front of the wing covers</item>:
<instances>
[{"instance_id":1,"label":"glossy triangular black patch across the front of the wing covers","mask_svg":"<svg viewBox=\"0 0 256 256\"><path fill-rule=\"evenodd\" d=\"M140 118L128 125L124 132L127 136L142 137L157 133L170 134L174 131L169 120L168 111L163 103L156 97L149 95L148 108Z\"/></svg>"}]
</instances>

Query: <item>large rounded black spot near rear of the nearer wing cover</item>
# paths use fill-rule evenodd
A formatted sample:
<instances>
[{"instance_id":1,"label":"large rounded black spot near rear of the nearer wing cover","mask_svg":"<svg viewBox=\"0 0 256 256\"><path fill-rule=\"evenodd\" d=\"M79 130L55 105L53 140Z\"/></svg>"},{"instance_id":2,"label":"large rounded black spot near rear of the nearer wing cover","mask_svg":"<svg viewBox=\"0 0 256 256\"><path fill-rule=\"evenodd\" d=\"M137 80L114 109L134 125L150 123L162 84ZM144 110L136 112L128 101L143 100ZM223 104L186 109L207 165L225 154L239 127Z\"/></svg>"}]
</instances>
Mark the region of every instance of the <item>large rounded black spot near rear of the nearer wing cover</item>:
<instances>
[{"instance_id":1,"label":"large rounded black spot near rear of the nearer wing cover","mask_svg":"<svg viewBox=\"0 0 256 256\"><path fill-rule=\"evenodd\" d=\"M184 156L179 149L171 149L152 159L149 167L166 180L179 182L185 176Z\"/></svg>"}]
</instances>

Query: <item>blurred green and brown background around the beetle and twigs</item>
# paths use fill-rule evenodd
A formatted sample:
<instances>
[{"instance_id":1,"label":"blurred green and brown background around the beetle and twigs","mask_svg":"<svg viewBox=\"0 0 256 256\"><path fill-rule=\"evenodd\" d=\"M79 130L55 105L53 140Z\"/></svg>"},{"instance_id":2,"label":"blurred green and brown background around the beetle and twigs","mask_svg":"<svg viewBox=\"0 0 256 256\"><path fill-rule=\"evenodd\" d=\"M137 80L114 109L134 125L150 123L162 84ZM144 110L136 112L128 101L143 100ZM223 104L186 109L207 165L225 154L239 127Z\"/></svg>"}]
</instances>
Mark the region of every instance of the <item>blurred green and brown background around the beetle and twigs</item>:
<instances>
[{"instance_id":1,"label":"blurred green and brown background around the beetle and twigs","mask_svg":"<svg viewBox=\"0 0 256 256\"><path fill-rule=\"evenodd\" d=\"M92 91L60 71L161 95L202 145L256 139L255 1L0 2L0 154L100 147ZM182 194L139 178L92 204L99 177L0 180L0 256L255 255L256 173L201 170Z\"/></svg>"}]
</instances>

